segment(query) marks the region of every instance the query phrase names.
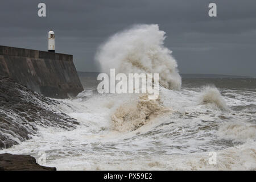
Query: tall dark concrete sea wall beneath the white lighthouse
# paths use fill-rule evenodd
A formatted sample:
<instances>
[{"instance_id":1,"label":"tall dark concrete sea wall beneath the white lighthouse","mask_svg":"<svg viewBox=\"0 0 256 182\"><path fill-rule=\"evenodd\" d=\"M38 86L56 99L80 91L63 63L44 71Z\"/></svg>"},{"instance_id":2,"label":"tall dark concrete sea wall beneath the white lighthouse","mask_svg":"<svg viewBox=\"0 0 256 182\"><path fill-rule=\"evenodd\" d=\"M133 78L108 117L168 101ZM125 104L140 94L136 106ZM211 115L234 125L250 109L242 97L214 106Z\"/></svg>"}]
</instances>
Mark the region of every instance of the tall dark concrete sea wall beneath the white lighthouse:
<instances>
[{"instance_id":1,"label":"tall dark concrete sea wall beneath the white lighthouse","mask_svg":"<svg viewBox=\"0 0 256 182\"><path fill-rule=\"evenodd\" d=\"M46 97L67 98L83 90L73 56L62 53L0 46L0 75Z\"/></svg>"}]
</instances>

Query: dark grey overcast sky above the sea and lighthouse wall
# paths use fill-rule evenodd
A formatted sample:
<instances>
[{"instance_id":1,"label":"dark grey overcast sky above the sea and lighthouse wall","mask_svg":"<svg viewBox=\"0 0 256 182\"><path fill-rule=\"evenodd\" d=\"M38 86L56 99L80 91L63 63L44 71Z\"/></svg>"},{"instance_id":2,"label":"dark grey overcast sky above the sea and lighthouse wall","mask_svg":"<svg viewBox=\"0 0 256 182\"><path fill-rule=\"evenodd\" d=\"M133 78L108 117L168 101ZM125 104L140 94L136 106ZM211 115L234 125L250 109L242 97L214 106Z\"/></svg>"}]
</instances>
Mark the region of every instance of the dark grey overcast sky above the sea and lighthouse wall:
<instances>
[{"instance_id":1,"label":"dark grey overcast sky above the sea and lighthouse wall","mask_svg":"<svg viewBox=\"0 0 256 182\"><path fill-rule=\"evenodd\" d=\"M210 2L217 17L208 16ZM72 54L77 71L99 71L97 47L115 32L153 23L166 32L180 73L256 77L255 0L1 0L0 20L2 46L47 51L52 28L56 52Z\"/></svg>"}]
</instances>

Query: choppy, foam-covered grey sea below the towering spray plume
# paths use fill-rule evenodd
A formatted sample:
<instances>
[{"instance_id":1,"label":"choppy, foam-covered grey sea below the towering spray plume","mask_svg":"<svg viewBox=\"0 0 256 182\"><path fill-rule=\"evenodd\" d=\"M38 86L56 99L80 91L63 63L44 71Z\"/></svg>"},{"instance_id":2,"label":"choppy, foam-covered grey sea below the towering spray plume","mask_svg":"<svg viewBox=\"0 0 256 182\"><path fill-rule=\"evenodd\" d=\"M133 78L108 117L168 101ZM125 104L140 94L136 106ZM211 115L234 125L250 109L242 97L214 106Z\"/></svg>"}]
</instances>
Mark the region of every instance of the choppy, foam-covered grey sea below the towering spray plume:
<instances>
[{"instance_id":1,"label":"choppy, foam-covered grey sea below the towering spray plume","mask_svg":"<svg viewBox=\"0 0 256 182\"><path fill-rule=\"evenodd\" d=\"M40 127L1 153L45 152L47 166L70 170L256 169L256 79L183 78L179 91L162 88L146 106L139 94L98 94L95 77L80 79L85 91L55 108L76 118L77 129ZM157 111L143 120L138 106Z\"/></svg>"}]
</instances>

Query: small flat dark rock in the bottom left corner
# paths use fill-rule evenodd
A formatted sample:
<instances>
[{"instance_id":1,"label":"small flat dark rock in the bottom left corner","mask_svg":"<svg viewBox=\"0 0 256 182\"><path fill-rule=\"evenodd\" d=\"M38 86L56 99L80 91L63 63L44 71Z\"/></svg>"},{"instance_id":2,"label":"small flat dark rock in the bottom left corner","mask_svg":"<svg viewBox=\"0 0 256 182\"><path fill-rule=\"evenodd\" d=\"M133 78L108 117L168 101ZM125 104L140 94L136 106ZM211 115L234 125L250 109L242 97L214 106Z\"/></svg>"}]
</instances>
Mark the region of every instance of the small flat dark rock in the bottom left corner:
<instances>
[{"instance_id":1,"label":"small flat dark rock in the bottom left corner","mask_svg":"<svg viewBox=\"0 0 256 182\"><path fill-rule=\"evenodd\" d=\"M56 171L55 167L40 166L30 155L0 154L0 171Z\"/></svg>"}]
</instances>

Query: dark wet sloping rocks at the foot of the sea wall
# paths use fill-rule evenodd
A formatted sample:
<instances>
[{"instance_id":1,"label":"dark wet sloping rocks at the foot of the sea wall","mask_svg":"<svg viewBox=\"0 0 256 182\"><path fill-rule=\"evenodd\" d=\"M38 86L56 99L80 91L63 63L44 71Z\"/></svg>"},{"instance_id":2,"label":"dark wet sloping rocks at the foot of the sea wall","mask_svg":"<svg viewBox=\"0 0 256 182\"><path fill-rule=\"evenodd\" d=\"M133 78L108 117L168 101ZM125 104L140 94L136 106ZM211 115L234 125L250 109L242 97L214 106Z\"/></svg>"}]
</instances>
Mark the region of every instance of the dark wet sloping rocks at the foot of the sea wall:
<instances>
[{"instance_id":1,"label":"dark wet sloping rocks at the foot of the sea wall","mask_svg":"<svg viewBox=\"0 0 256 182\"><path fill-rule=\"evenodd\" d=\"M38 126L75 129L76 119L54 109L59 104L0 75L0 150L38 135Z\"/></svg>"}]
</instances>

